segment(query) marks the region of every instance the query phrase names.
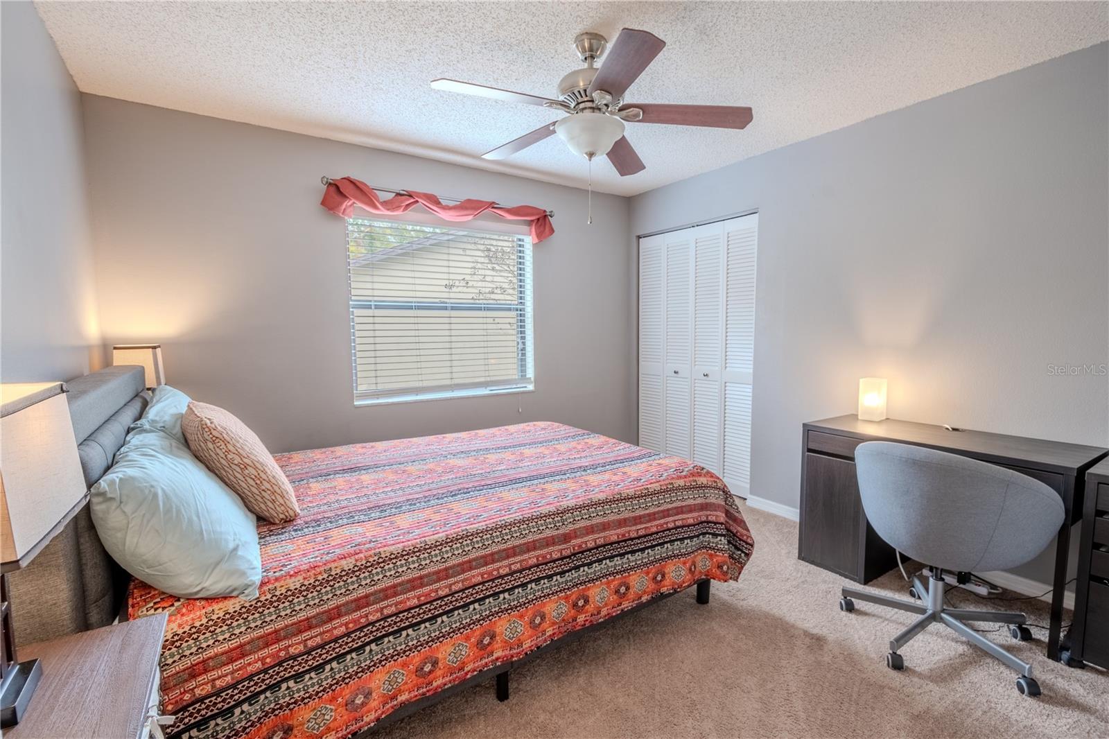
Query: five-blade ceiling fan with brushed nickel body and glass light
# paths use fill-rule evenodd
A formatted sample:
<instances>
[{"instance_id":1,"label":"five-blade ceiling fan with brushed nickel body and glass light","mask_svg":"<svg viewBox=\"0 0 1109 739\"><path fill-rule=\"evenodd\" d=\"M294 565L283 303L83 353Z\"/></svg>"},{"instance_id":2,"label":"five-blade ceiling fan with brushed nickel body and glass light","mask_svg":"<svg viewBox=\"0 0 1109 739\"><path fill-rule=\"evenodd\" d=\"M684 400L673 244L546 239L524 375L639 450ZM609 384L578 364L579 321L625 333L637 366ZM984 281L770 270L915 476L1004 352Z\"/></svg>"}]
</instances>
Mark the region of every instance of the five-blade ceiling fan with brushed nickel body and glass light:
<instances>
[{"instance_id":1,"label":"five-blade ceiling fan with brushed nickel body and glass light","mask_svg":"<svg viewBox=\"0 0 1109 739\"><path fill-rule=\"evenodd\" d=\"M586 65L577 69L558 84L559 99L500 90L472 82L438 79L436 90L449 90L495 100L543 105L568 115L553 123L525 133L506 144L481 154L485 159L505 159L518 151L558 133L576 154L592 161L608 155L621 176L645 169L639 154L624 136L624 122L670 123L715 129L742 129L751 122L751 109L733 105L670 105L662 103L623 102L624 92L647 69L667 42L647 31L625 28L620 31L604 63L594 67L608 47L600 33L579 33L573 47Z\"/></svg>"}]
</instances>

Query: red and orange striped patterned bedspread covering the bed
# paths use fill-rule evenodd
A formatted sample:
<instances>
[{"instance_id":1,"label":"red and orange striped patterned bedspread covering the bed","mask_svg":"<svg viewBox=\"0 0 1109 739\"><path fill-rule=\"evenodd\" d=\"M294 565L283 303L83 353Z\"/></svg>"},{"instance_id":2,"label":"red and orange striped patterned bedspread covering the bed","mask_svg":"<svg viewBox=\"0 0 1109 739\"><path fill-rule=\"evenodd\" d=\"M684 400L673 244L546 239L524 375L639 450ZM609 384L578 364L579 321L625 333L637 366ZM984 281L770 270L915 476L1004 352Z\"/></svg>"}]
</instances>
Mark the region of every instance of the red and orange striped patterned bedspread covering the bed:
<instances>
[{"instance_id":1,"label":"red and orange striped patterned bedspread covering the bed","mask_svg":"<svg viewBox=\"0 0 1109 739\"><path fill-rule=\"evenodd\" d=\"M277 463L302 515L260 525L258 598L130 589L132 618L170 616L172 736L348 737L655 596L733 580L753 545L709 470L560 424Z\"/></svg>"}]
</instances>

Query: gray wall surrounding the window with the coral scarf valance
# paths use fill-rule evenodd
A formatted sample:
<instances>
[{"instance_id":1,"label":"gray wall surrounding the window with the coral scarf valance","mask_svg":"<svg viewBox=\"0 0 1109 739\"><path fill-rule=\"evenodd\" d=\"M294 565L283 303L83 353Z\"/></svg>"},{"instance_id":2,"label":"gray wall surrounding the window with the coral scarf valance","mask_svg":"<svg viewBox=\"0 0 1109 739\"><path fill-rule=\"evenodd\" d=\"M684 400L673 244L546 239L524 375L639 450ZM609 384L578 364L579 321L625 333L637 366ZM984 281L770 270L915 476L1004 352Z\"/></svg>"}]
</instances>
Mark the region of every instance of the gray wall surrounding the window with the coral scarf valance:
<instances>
[{"instance_id":1,"label":"gray wall surrounding the window with the coral scarf valance","mask_svg":"<svg viewBox=\"0 0 1109 739\"><path fill-rule=\"evenodd\" d=\"M536 419L634 441L627 199L594 194L589 226L581 190L83 101L104 343L161 342L171 385L272 451ZM346 231L319 206L324 174L556 212L535 247L533 393L354 407Z\"/></svg>"}]
</instances>

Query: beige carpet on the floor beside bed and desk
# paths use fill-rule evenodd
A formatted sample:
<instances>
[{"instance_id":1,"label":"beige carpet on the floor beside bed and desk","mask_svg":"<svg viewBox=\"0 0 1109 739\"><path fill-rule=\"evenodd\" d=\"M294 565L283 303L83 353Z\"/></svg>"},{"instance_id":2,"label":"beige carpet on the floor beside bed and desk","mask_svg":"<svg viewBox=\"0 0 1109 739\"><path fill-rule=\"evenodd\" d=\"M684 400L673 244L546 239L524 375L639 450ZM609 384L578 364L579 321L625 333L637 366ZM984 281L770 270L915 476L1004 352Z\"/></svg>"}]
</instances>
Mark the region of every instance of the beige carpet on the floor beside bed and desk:
<instances>
[{"instance_id":1,"label":"beige carpet on the floor beside bed and desk","mask_svg":"<svg viewBox=\"0 0 1109 739\"><path fill-rule=\"evenodd\" d=\"M1032 661L1038 699L946 628L902 650L905 671L887 669L889 637L913 617L867 604L841 613L844 580L797 560L796 524L744 515L754 556L737 583L713 583L710 605L678 594L518 668L505 703L490 680L378 736L1109 737L1109 675L1049 662L1042 629L1024 644L989 635ZM872 585L906 591L897 570ZM953 601L989 607L965 594ZM1047 622L1041 601L1009 605Z\"/></svg>"}]
</instances>

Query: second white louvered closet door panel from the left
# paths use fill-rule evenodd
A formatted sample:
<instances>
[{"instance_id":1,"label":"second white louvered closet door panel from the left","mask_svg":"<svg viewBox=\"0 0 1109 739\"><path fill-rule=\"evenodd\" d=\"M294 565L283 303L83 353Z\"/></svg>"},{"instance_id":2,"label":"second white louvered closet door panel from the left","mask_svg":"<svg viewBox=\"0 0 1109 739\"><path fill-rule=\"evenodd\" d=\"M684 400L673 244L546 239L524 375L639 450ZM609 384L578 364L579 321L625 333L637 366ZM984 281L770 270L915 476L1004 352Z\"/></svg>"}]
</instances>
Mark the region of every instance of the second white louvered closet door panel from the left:
<instances>
[{"instance_id":1,"label":"second white louvered closet door panel from the left","mask_svg":"<svg viewBox=\"0 0 1109 739\"><path fill-rule=\"evenodd\" d=\"M690 429L690 374L693 318L692 230L663 234L665 253L664 331L664 425L665 453L689 459L692 456Z\"/></svg>"}]
</instances>

